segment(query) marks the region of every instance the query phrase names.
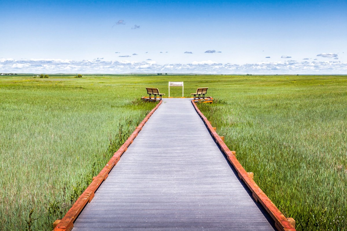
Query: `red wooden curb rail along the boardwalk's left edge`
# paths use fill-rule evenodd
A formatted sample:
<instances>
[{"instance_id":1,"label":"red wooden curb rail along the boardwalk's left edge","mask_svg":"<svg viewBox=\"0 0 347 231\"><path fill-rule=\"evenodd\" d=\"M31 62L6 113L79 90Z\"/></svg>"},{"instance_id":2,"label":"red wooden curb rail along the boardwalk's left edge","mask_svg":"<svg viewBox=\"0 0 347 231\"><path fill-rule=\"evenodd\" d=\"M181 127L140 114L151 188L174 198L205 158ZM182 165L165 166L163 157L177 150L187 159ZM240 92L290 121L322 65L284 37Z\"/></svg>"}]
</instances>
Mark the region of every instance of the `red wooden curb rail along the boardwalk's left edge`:
<instances>
[{"instance_id":1,"label":"red wooden curb rail along the boardwalk's left edge","mask_svg":"<svg viewBox=\"0 0 347 231\"><path fill-rule=\"evenodd\" d=\"M133 140L138 135L139 131L142 130L143 125L148 121L154 111L159 107L162 101L156 105L151 112L143 119L143 121L136 127L133 134L125 141L125 143L118 149L107 165L100 171L98 176L96 176L92 183L84 190L82 195L77 199L75 204L70 208L70 210L65 214L65 216L60 220L57 226L53 229L53 231L70 231L74 227L74 221L77 216L82 212L84 206L91 202L95 191L99 188L101 183L108 177L109 172L119 161L120 156L127 150L128 146L133 143Z\"/></svg>"}]
</instances>

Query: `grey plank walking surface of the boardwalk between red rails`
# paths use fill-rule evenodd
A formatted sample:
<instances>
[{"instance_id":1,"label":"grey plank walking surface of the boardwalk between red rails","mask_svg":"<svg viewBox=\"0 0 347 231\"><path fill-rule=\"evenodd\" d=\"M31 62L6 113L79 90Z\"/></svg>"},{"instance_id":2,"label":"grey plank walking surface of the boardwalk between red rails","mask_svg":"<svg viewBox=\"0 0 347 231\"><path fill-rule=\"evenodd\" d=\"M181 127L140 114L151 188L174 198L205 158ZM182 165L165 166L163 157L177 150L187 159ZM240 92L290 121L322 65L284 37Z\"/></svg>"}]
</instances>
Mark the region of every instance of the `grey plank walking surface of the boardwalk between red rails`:
<instances>
[{"instance_id":1,"label":"grey plank walking surface of the boardwalk between red rails","mask_svg":"<svg viewBox=\"0 0 347 231\"><path fill-rule=\"evenodd\" d=\"M189 99L163 99L74 223L79 230L273 230Z\"/></svg>"}]
</instances>

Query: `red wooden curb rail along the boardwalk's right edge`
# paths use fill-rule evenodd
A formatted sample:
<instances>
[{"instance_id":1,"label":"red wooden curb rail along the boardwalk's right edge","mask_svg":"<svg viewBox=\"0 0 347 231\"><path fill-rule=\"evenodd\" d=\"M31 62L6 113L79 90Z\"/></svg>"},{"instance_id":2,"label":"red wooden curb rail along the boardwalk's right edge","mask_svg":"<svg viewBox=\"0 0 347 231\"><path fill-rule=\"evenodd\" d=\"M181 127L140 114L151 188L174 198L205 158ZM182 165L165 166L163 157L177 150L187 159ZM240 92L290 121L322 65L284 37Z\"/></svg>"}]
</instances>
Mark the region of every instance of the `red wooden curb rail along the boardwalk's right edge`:
<instances>
[{"instance_id":1,"label":"red wooden curb rail along the boardwalk's right edge","mask_svg":"<svg viewBox=\"0 0 347 231\"><path fill-rule=\"evenodd\" d=\"M205 125L210 130L210 133L215 139L216 143L220 146L220 149L226 154L229 162L234 166L234 168L238 172L238 176L246 183L248 188L252 191L255 201L261 203L263 207L265 208L265 210L270 214L272 219L275 221L275 227L278 230L282 230L282 231L295 231L294 226L289 223L287 217L285 217L285 215L283 215L281 211L279 211L276 205L272 203L269 197L266 196L265 193L254 182L252 177L248 175L246 170L242 167L240 162L236 159L235 152L229 150L228 146L220 138L217 132L215 132L214 128L212 127L208 119L197 108L196 104L194 103L194 100L192 100L192 104L196 112L199 114L199 116L204 121Z\"/></svg>"}]
</instances>

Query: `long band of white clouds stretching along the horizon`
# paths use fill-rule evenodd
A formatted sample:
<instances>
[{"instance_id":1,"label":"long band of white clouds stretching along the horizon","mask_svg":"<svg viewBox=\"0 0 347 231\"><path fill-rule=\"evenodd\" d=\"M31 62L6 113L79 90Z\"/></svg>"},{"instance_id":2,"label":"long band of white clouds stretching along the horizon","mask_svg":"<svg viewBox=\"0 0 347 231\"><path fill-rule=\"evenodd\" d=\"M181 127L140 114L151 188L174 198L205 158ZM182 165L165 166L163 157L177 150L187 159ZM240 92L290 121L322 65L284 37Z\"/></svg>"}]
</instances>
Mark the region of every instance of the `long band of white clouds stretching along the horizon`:
<instances>
[{"instance_id":1,"label":"long band of white clouds stretching along the horizon","mask_svg":"<svg viewBox=\"0 0 347 231\"><path fill-rule=\"evenodd\" d=\"M194 61L192 63L158 64L155 61L129 60L61 60L61 59L0 59L0 70L13 73L128 73L134 70L143 73L206 73L206 74L346 74L347 62L302 61L302 62L260 62L243 65L218 63L215 61Z\"/></svg>"}]
</instances>

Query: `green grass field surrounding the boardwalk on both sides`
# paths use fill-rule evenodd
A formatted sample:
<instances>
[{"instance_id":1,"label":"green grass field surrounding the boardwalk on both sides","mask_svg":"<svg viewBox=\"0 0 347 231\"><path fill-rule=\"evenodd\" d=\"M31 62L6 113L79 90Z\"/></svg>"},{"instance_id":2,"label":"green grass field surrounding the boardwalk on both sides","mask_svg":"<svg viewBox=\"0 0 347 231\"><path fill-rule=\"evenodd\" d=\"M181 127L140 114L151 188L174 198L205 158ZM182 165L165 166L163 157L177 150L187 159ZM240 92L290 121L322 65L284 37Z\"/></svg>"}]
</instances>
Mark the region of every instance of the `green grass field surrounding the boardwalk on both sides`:
<instances>
[{"instance_id":1,"label":"green grass field surrounding the boardwalk on both sides","mask_svg":"<svg viewBox=\"0 0 347 231\"><path fill-rule=\"evenodd\" d=\"M50 230L155 106L144 87L168 81L209 87L200 109L297 230L347 229L347 76L26 75L0 78L0 230L32 209Z\"/></svg>"}]
</instances>

